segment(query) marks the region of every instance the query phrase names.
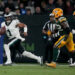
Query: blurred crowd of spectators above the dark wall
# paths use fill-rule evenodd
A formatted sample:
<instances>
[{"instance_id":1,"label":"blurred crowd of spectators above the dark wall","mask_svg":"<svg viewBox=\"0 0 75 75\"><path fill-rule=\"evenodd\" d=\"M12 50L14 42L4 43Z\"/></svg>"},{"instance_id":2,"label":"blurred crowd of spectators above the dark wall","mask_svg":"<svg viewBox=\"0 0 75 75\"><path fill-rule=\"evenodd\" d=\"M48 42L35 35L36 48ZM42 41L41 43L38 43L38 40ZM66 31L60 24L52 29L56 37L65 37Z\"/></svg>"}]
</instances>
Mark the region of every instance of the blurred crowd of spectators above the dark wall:
<instances>
[{"instance_id":1,"label":"blurred crowd of spectators above the dark wall","mask_svg":"<svg viewBox=\"0 0 75 75\"><path fill-rule=\"evenodd\" d=\"M65 15L72 15L75 0L0 0L0 15L9 12L15 15L42 15L56 7L62 8Z\"/></svg>"}]
</instances>

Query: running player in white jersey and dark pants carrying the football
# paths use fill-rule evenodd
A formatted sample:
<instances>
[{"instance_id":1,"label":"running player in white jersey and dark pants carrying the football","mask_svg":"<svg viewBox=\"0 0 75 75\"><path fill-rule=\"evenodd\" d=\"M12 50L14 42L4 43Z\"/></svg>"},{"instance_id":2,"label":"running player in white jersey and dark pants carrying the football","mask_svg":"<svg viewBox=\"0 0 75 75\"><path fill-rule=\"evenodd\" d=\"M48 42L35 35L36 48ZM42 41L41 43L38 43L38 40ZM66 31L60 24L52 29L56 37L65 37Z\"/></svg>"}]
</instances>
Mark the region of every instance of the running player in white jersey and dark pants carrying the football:
<instances>
[{"instance_id":1,"label":"running player in white jersey and dark pants carrying the football","mask_svg":"<svg viewBox=\"0 0 75 75\"><path fill-rule=\"evenodd\" d=\"M21 45L21 41L24 41L25 39L20 36L19 28L24 28L24 35L27 35L27 25L19 22L18 19L12 19L12 14L5 14L5 21L1 24L1 28L6 28L6 39L4 40L4 50L7 56L7 61L5 62L5 65L11 64L11 52L10 49L13 48L15 50L18 50L23 56L32 58L37 60L40 64L42 64L42 58L40 56L36 56L32 54L31 52L28 52L24 50L24 48ZM10 48L11 47L11 48Z\"/></svg>"}]
</instances>

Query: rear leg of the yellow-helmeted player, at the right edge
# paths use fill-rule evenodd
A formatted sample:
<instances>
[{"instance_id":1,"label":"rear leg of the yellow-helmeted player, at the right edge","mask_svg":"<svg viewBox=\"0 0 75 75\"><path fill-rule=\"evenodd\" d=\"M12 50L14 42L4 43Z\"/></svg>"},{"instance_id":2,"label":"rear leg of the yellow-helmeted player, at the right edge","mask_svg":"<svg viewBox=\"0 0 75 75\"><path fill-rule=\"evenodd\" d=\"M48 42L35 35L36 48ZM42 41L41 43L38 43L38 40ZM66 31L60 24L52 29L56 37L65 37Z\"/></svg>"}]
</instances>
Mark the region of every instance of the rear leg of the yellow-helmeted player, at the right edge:
<instances>
[{"instance_id":1,"label":"rear leg of the yellow-helmeted player, at the right edge","mask_svg":"<svg viewBox=\"0 0 75 75\"><path fill-rule=\"evenodd\" d=\"M66 47L69 51L70 59L73 60L70 65L75 66L75 44L74 44L74 41L73 41L73 34L72 33L69 34L67 42L68 43L66 44Z\"/></svg>"}]
</instances>

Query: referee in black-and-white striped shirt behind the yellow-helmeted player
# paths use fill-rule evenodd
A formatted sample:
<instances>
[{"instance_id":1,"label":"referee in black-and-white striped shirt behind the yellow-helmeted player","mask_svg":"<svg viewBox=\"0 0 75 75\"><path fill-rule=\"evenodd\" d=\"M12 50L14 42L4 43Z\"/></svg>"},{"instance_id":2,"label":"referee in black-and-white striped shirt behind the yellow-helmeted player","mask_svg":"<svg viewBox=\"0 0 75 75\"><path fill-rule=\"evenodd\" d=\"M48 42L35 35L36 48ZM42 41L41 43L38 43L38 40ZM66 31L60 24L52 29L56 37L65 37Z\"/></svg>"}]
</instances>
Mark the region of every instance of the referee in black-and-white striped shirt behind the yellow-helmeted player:
<instances>
[{"instance_id":1,"label":"referee in black-and-white striped shirt behind the yellow-helmeted player","mask_svg":"<svg viewBox=\"0 0 75 75\"><path fill-rule=\"evenodd\" d=\"M53 45L60 37L59 31L56 31L56 33L53 33L53 32L56 29L56 27L61 28L60 25L57 25L54 14L50 13L49 18L50 20L45 23L45 25L43 26L43 30L42 30L42 33L46 36L45 38L46 40L45 63L48 62L48 53L50 57L49 62L53 61ZM58 52L59 51L60 50L58 50ZM59 54L60 52L58 53L58 56Z\"/></svg>"}]
</instances>

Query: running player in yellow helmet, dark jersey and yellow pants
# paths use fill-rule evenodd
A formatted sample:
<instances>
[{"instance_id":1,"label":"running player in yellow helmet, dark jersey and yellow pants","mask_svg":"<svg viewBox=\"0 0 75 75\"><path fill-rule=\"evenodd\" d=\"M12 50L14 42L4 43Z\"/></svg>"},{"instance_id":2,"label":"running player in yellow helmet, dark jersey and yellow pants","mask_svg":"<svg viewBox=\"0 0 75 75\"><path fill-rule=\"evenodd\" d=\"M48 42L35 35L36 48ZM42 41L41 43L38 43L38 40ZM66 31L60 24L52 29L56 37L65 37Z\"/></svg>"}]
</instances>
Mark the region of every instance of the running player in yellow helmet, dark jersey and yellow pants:
<instances>
[{"instance_id":1,"label":"running player in yellow helmet, dark jersey and yellow pants","mask_svg":"<svg viewBox=\"0 0 75 75\"><path fill-rule=\"evenodd\" d=\"M70 58L73 58L72 63L70 66L75 66L75 45L73 42L73 34L71 32L71 28L68 24L66 17L63 16L63 10L60 8L55 8L52 13L55 15L57 23L63 29L61 37L58 41L54 44L54 48L61 48L64 45L69 51ZM55 62L46 63L47 66L56 67Z\"/></svg>"}]
</instances>

